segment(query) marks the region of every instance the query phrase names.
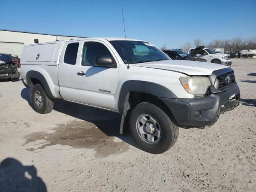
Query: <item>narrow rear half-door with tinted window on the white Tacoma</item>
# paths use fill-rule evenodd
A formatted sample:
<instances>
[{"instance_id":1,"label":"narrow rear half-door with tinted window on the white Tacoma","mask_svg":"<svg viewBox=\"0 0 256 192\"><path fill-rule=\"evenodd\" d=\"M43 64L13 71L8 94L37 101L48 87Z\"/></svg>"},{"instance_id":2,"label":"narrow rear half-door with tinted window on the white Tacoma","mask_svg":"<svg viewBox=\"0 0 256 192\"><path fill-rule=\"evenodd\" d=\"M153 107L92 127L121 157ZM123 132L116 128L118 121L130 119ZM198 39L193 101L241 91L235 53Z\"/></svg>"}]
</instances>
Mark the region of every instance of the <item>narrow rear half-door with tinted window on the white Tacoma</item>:
<instances>
[{"instance_id":1,"label":"narrow rear half-door with tinted window on the white Tacoma","mask_svg":"<svg viewBox=\"0 0 256 192\"><path fill-rule=\"evenodd\" d=\"M60 55L58 82L62 98L78 102L76 83L76 63L79 62L78 48L81 41L66 43Z\"/></svg>"}]
</instances>

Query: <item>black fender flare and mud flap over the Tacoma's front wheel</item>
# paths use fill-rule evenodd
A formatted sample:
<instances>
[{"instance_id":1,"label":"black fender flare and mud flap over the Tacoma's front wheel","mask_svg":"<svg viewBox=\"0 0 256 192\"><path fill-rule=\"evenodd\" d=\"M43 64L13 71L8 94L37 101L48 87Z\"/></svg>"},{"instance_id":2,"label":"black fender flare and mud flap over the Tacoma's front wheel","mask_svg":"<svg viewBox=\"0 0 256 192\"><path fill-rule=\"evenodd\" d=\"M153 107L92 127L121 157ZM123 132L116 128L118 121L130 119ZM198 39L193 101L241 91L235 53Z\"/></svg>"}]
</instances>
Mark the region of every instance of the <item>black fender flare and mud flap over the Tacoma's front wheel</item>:
<instances>
[{"instance_id":1,"label":"black fender flare and mud flap over the Tacoma's front wheel","mask_svg":"<svg viewBox=\"0 0 256 192\"><path fill-rule=\"evenodd\" d=\"M132 91L147 93L161 98L177 98L177 96L172 91L160 84L140 80L128 80L124 82L120 89L120 94L118 98L118 111L122 113L120 134L123 133L124 124L128 123L126 116L128 110L130 109L130 104L128 100L130 92Z\"/></svg>"}]
</instances>

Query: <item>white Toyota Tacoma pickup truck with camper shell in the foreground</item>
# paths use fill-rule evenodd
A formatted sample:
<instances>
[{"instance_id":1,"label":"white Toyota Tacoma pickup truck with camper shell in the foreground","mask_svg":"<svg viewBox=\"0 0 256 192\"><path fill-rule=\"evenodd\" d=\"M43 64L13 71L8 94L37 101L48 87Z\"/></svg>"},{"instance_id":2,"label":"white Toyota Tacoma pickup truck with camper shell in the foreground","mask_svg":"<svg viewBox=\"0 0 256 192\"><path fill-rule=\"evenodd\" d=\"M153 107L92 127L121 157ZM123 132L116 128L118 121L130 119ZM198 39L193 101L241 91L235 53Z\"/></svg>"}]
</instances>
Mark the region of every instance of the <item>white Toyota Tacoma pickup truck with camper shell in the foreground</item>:
<instances>
[{"instance_id":1,"label":"white Toyota Tacoma pickup truck with camper shell in the foreground","mask_svg":"<svg viewBox=\"0 0 256 192\"><path fill-rule=\"evenodd\" d=\"M134 39L27 45L21 78L36 112L51 112L54 100L64 99L121 113L120 133L129 128L138 146L153 154L174 145L178 127L211 126L240 100L232 68L171 60Z\"/></svg>"}]
</instances>

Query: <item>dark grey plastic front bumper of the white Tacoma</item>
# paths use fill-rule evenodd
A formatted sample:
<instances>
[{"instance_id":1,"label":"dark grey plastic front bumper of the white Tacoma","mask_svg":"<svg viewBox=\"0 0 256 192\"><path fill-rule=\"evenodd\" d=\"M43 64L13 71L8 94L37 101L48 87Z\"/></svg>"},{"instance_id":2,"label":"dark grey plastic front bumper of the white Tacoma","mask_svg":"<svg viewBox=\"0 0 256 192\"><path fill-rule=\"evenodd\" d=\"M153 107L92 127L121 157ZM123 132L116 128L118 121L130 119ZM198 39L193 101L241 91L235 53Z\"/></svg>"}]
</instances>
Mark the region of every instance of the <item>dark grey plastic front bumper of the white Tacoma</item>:
<instances>
[{"instance_id":1,"label":"dark grey plastic front bumper of the white Tacoma","mask_svg":"<svg viewBox=\"0 0 256 192\"><path fill-rule=\"evenodd\" d=\"M222 112L236 108L240 101L240 90L237 84L234 84L227 90L202 98L160 100L168 106L178 126L203 127L214 124Z\"/></svg>"}]
</instances>

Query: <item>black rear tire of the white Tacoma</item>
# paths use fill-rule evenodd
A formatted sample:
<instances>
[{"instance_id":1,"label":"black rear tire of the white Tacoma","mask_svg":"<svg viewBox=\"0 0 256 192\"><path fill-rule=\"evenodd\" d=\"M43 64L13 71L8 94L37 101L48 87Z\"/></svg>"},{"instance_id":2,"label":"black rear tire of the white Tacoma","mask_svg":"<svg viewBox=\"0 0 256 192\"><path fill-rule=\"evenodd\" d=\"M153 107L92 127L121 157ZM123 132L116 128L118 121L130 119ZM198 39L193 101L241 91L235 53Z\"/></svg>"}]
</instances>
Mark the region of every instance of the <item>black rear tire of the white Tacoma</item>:
<instances>
[{"instance_id":1,"label":"black rear tire of the white Tacoma","mask_svg":"<svg viewBox=\"0 0 256 192\"><path fill-rule=\"evenodd\" d=\"M38 95L38 92L40 93L40 100L42 101L42 105L38 106L37 102L39 102L36 99L36 94ZM50 113L54 106L54 101L48 97L46 92L44 91L44 88L40 84L36 84L32 89L32 105L36 112L41 114Z\"/></svg>"}]
</instances>

